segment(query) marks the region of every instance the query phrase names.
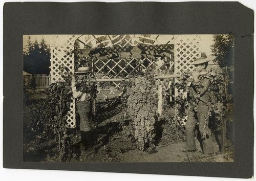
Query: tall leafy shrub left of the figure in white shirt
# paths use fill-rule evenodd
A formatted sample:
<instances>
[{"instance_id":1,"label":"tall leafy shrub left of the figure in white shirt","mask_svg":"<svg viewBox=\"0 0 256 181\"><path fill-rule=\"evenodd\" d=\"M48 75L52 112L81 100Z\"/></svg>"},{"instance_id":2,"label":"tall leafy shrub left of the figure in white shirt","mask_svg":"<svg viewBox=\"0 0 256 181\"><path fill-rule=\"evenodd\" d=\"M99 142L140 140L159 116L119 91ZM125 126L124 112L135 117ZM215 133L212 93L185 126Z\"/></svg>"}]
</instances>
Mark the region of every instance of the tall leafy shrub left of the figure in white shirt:
<instances>
[{"instance_id":1,"label":"tall leafy shrub left of the figure in white shirt","mask_svg":"<svg viewBox=\"0 0 256 181\"><path fill-rule=\"evenodd\" d=\"M33 123L25 135L35 137L38 142L52 142L54 161L65 161L72 156L76 132L67 126L67 114L70 110L73 93L71 73L63 75L64 81L52 83L47 89L47 99L35 104L32 112Z\"/></svg>"}]
</instances>

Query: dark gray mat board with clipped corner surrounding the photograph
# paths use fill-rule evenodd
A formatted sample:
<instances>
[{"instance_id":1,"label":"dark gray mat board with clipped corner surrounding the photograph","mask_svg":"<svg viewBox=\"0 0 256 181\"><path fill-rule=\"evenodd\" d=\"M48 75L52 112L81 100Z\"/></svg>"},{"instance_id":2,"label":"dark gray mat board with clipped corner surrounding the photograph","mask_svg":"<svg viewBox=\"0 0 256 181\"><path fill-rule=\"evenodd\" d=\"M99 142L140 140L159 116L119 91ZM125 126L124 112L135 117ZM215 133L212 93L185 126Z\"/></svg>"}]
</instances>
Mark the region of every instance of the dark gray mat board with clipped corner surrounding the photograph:
<instances>
[{"instance_id":1,"label":"dark gray mat board with clipped corner surrounding the photograph","mask_svg":"<svg viewBox=\"0 0 256 181\"><path fill-rule=\"evenodd\" d=\"M253 175L253 16L238 2L6 3L4 168L250 178ZM23 162L23 35L236 34L234 163Z\"/></svg>"}]
</instances>

